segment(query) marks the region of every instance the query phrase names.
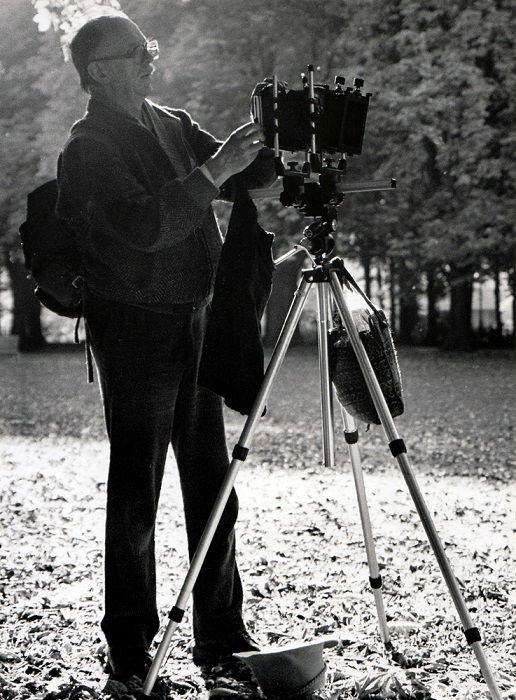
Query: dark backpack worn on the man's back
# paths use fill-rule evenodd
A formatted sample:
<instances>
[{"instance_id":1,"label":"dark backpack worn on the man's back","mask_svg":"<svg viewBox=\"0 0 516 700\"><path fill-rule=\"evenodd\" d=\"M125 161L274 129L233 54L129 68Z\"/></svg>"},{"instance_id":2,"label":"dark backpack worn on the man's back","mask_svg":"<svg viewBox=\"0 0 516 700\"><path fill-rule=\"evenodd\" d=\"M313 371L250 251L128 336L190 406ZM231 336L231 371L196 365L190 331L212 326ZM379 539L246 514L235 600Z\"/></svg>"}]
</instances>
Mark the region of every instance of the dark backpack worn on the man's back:
<instances>
[{"instance_id":1,"label":"dark backpack worn on the man's back","mask_svg":"<svg viewBox=\"0 0 516 700\"><path fill-rule=\"evenodd\" d=\"M27 196L27 218L20 226L25 267L34 280L34 294L59 316L82 313L82 277L73 232L55 214L57 180L49 180Z\"/></svg>"}]
</instances>

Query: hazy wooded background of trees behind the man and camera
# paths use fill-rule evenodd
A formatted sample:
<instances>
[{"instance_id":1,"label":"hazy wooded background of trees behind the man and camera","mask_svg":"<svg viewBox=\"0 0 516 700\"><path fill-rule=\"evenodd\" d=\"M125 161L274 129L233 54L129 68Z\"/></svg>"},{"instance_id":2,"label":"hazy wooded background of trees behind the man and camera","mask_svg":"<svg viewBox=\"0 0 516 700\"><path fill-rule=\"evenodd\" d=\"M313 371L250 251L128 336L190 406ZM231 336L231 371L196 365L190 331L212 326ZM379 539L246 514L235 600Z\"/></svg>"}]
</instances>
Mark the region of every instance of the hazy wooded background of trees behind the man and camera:
<instances>
[{"instance_id":1,"label":"hazy wooded background of trees behind the man and camera","mask_svg":"<svg viewBox=\"0 0 516 700\"><path fill-rule=\"evenodd\" d=\"M41 317L18 226L27 192L54 177L68 129L84 111L86 96L61 48L74 23L98 4L0 5L0 320L22 350L71 334L68 322ZM264 76L276 72L299 87L308 62L317 67L317 82L340 74L351 84L363 76L373 98L350 179L392 176L398 189L346 198L339 253L390 313L398 342L447 349L510 344L516 91L508 0L105 4L121 6L159 40L153 99L186 107L219 137L247 120L249 95ZM221 205L219 214L224 223L227 208ZM297 241L304 223L271 202L262 206L262 222L276 232L276 251ZM298 257L276 272L268 341L302 264Z\"/></svg>"}]
</instances>

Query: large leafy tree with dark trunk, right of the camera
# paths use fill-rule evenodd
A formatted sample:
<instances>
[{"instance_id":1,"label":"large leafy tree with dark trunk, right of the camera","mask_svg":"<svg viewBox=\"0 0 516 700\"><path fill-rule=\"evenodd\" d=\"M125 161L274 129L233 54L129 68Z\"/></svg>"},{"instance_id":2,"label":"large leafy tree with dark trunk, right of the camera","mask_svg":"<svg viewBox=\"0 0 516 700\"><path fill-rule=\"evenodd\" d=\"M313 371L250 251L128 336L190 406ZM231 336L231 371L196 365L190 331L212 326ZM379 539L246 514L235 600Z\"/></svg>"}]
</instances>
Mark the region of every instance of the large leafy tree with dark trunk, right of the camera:
<instances>
[{"instance_id":1,"label":"large leafy tree with dark trunk, right of the camera","mask_svg":"<svg viewBox=\"0 0 516 700\"><path fill-rule=\"evenodd\" d=\"M444 272L451 316L462 324L460 332L450 324L447 344L457 347L470 335L473 273L500 255L511 266L509 6L400 0L377 17L371 57L388 86L379 98L387 138L378 153L409 184L393 203L403 218L391 247L405 258L417 247L416 260ZM380 29L388 41L376 41Z\"/></svg>"}]
</instances>

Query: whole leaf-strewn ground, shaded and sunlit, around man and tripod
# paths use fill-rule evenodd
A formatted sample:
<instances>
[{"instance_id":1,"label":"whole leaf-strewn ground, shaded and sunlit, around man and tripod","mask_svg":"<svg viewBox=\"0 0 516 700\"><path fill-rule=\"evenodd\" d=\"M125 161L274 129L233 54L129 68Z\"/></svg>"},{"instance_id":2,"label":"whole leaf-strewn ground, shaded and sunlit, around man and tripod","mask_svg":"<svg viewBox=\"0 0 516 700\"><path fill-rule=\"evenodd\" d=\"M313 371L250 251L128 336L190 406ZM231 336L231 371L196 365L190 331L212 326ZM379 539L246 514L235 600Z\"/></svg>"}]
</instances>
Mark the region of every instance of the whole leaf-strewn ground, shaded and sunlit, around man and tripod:
<instances>
[{"instance_id":1,"label":"whole leaf-strewn ground, shaded and sunlit, around man and tripod","mask_svg":"<svg viewBox=\"0 0 516 700\"><path fill-rule=\"evenodd\" d=\"M0 697L105 697L98 621L107 443L98 389L84 383L76 353L0 363ZM503 696L516 697L511 357L412 350L400 364L407 404L400 434ZM380 642L339 436L336 467L320 466L317 383L315 350L292 350L238 476L251 632L262 644L337 637L325 651L327 680L317 696L324 700L489 697L403 478L374 427L361 431L360 446L392 649ZM228 413L230 447L242 425ZM157 546L165 622L187 568L172 459ZM173 698L208 697L190 643L187 616L163 669ZM226 692L259 697L243 686Z\"/></svg>"}]
</instances>

